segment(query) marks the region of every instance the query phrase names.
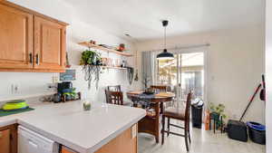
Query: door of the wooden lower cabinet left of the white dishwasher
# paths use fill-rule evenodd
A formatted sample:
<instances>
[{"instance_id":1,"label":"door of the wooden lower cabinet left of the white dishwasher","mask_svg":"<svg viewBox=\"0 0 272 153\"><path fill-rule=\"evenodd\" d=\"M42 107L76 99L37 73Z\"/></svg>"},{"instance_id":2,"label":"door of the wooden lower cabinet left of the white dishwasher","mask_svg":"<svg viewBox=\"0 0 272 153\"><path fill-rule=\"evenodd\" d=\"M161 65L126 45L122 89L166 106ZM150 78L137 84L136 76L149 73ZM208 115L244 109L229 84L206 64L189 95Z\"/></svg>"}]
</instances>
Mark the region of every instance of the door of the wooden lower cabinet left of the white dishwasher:
<instances>
[{"instance_id":1,"label":"door of the wooden lower cabinet left of the white dishwasher","mask_svg":"<svg viewBox=\"0 0 272 153\"><path fill-rule=\"evenodd\" d=\"M0 153L10 153L10 129L0 130Z\"/></svg>"}]
</instances>

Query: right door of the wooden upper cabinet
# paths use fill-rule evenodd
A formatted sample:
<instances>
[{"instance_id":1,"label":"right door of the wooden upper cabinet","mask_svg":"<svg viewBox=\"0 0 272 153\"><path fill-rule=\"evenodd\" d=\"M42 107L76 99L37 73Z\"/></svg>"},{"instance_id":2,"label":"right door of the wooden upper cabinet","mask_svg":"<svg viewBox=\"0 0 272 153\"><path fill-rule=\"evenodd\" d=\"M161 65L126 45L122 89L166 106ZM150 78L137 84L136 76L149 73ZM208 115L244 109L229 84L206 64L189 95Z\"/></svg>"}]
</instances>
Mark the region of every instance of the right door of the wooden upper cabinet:
<instances>
[{"instance_id":1,"label":"right door of the wooden upper cabinet","mask_svg":"<svg viewBox=\"0 0 272 153\"><path fill-rule=\"evenodd\" d=\"M34 16L34 69L65 68L65 26Z\"/></svg>"}]
</instances>

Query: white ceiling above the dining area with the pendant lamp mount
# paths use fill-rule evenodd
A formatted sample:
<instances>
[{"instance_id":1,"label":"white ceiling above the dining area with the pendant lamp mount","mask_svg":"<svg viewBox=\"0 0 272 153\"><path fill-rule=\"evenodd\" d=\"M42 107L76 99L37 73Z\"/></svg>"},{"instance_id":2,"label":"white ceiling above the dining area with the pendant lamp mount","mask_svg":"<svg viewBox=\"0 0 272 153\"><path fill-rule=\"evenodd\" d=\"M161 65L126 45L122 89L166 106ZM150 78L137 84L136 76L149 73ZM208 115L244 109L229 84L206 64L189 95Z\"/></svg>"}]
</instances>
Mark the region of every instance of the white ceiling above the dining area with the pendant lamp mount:
<instances>
[{"instance_id":1,"label":"white ceiling above the dining area with the pendant lamp mount","mask_svg":"<svg viewBox=\"0 0 272 153\"><path fill-rule=\"evenodd\" d=\"M109 33L137 40L265 22L265 0L65 0L77 16Z\"/></svg>"}]
</instances>

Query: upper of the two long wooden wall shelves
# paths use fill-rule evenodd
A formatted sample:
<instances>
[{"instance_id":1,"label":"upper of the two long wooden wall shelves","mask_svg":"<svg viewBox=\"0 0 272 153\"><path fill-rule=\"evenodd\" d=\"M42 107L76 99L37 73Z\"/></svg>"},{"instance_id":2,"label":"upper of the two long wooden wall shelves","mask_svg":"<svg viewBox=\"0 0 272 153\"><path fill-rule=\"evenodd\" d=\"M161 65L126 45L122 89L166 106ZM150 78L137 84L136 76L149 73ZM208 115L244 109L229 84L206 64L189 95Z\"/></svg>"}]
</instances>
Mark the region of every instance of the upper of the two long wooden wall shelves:
<instances>
[{"instance_id":1,"label":"upper of the two long wooden wall shelves","mask_svg":"<svg viewBox=\"0 0 272 153\"><path fill-rule=\"evenodd\" d=\"M123 53L123 52L119 52L119 51L116 51L116 50L112 50L112 49L109 49L109 48L106 48L106 47L103 47L103 46L100 46L100 45L97 45L97 44L92 44L92 43L88 43L88 42L83 42L83 43L79 43L80 45L83 45L85 47L89 47L89 48L93 48L93 49L98 49L98 50L101 50L101 51L104 51L104 52L108 52L108 53L116 53L116 54L120 54L122 56L133 56L133 54L131 53Z\"/></svg>"}]
</instances>

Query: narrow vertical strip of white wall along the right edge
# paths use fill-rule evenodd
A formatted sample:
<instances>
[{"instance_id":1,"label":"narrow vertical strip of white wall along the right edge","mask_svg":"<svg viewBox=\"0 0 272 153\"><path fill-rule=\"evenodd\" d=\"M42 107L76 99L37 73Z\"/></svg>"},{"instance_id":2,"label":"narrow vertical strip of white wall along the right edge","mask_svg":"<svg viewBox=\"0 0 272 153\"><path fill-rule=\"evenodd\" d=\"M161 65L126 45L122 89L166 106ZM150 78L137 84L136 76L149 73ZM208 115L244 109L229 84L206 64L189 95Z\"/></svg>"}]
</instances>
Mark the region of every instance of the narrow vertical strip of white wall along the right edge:
<instances>
[{"instance_id":1,"label":"narrow vertical strip of white wall along the right edge","mask_svg":"<svg viewBox=\"0 0 272 153\"><path fill-rule=\"evenodd\" d=\"M266 18L267 153L272 153L272 2L267 0Z\"/></svg>"}]
</instances>

